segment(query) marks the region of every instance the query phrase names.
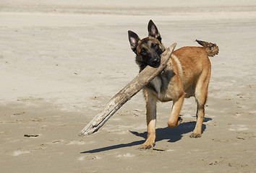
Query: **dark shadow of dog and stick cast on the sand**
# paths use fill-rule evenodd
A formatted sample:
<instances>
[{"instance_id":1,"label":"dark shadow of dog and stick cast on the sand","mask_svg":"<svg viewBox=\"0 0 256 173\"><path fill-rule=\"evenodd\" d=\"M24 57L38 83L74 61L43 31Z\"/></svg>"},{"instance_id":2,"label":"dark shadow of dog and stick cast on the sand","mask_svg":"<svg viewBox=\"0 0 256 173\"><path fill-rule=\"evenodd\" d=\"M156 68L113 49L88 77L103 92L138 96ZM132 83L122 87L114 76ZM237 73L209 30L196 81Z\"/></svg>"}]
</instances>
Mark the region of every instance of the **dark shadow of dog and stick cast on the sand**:
<instances>
[{"instance_id":1,"label":"dark shadow of dog and stick cast on the sand","mask_svg":"<svg viewBox=\"0 0 256 173\"><path fill-rule=\"evenodd\" d=\"M212 120L212 119L209 117L205 117L203 122L208 122L209 120ZM157 128L155 130L155 133L156 133L155 142L162 141L162 140L168 140L168 142L174 143L176 141L179 141L180 139L182 139L182 136L184 134L191 133L194 130L195 124L196 124L196 122L193 121L193 122L181 123L176 128L168 128L168 127ZM205 131L205 128L206 128L206 125L202 124L202 133ZM114 145L114 146L106 146L103 148L96 148L96 149L89 150L89 151L82 151L82 152L80 152L80 154L99 153L102 151L109 151L109 150L113 150L113 149L117 149L117 148L125 148L125 147L129 147L129 146L139 146L142 143L144 143L147 138L147 132L144 132L144 133L138 133L136 131L129 131L129 132L134 134L135 136L142 137L143 140L134 141L131 143L122 143L122 144L118 144L118 145Z\"/></svg>"}]
</instances>

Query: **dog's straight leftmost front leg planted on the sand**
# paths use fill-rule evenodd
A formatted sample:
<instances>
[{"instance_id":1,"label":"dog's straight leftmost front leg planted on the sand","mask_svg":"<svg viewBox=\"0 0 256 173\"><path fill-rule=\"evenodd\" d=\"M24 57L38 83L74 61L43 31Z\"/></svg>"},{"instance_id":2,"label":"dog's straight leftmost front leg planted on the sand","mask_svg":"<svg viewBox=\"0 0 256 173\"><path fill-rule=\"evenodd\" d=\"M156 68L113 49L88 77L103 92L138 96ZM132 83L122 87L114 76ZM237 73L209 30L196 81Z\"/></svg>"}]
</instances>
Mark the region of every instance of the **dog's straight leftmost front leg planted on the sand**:
<instances>
[{"instance_id":1,"label":"dog's straight leftmost front leg planted on the sand","mask_svg":"<svg viewBox=\"0 0 256 173\"><path fill-rule=\"evenodd\" d=\"M155 145L156 101L153 95L146 96L148 138L140 148L149 149Z\"/></svg>"}]
</instances>

